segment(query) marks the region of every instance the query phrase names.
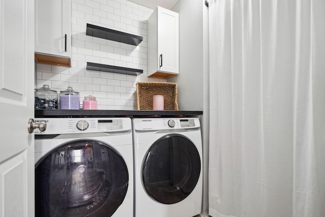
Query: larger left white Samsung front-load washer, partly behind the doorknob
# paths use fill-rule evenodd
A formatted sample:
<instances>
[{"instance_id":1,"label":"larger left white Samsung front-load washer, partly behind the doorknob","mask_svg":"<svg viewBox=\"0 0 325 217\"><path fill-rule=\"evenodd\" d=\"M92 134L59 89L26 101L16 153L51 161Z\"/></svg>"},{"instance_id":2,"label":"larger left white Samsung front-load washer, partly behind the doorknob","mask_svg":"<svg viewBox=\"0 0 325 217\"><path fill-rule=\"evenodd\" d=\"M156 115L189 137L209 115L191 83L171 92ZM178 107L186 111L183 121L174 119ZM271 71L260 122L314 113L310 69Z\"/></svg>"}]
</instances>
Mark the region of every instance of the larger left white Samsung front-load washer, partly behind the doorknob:
<instances>
[{"instance_id":1,"label":"larger left white Samsung front-load washer, partly behind the doorknob","mask_svg":"<svg viewBox=\"0 0 325 217\"><path fill-rule=\"evenodd\" d=\"M130 118L35 118L35 216L134 215Z\"/></svg>"}]
</instances>

